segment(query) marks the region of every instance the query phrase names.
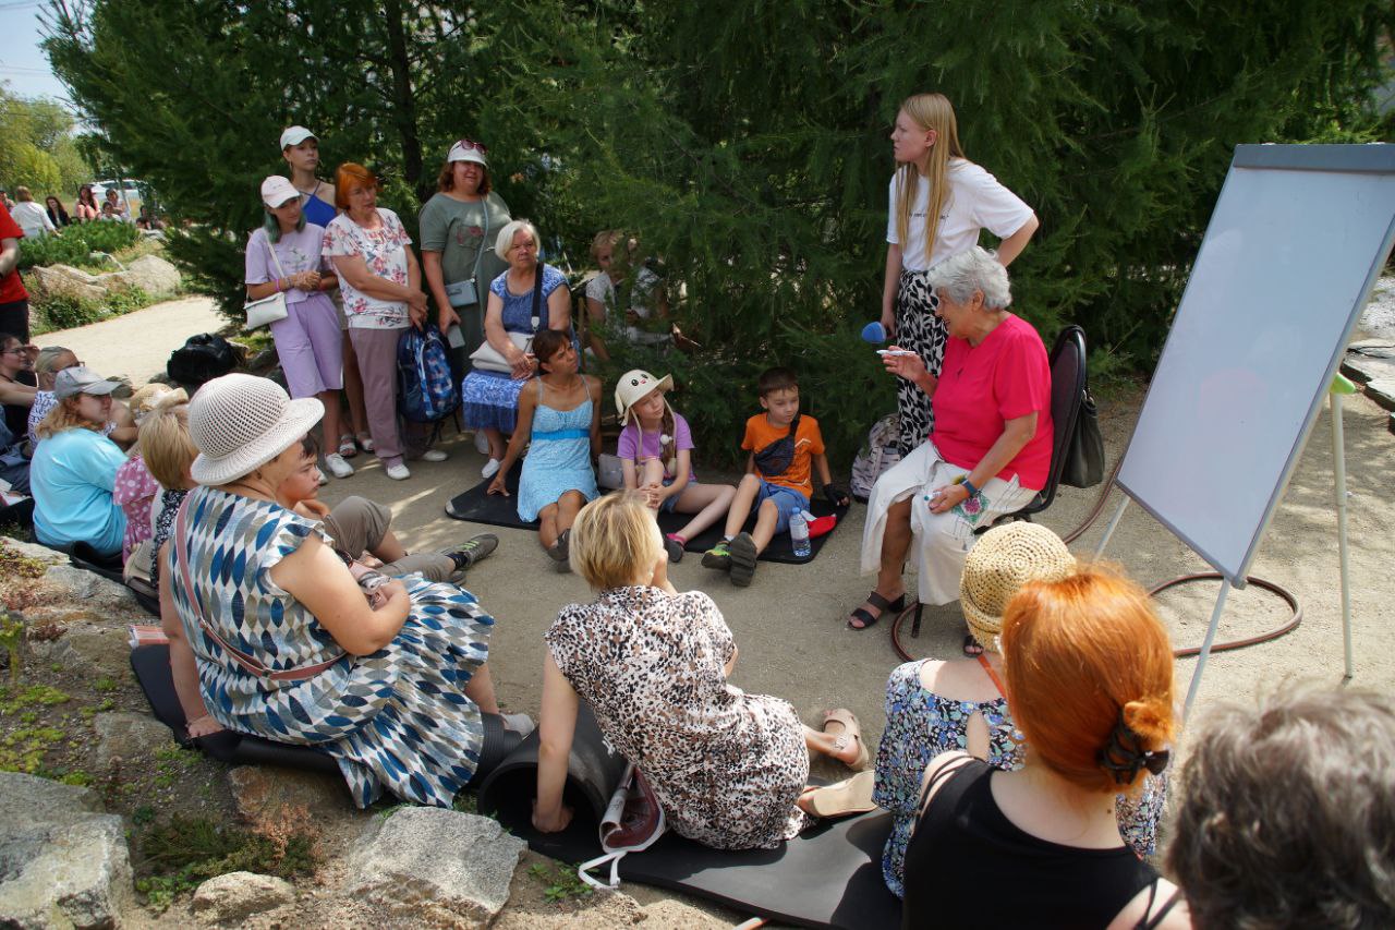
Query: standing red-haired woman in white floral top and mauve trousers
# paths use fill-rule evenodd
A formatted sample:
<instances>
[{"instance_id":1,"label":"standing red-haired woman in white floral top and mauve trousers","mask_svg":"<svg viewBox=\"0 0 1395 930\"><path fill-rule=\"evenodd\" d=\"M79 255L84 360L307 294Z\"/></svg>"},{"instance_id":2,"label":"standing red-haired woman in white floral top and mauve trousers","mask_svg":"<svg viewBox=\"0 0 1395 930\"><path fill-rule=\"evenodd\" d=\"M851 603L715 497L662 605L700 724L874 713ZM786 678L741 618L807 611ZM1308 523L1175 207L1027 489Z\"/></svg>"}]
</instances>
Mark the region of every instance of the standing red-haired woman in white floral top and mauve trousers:
<instances>
[{"instance_id":1,"label":"standing red-haired woman in white floral top and mauve trousers","mask_svg":"<svg viewBox=\"0 0 1395 930\"><path fill-rule=\"evenodd\" d=\"M346 162L335 173L335 205L342 211L325 229L324 254L339 272L349 339L359 356L368 431L388 478L412 476L403 465L398 433L398 341L409 325L427 318L421 268L412 236L391 209L378 207L378 179L363 165ZM416 451L416 450L410 450ZM420 454L438 462L445 452Z\"/></svg>"}]
</instances>

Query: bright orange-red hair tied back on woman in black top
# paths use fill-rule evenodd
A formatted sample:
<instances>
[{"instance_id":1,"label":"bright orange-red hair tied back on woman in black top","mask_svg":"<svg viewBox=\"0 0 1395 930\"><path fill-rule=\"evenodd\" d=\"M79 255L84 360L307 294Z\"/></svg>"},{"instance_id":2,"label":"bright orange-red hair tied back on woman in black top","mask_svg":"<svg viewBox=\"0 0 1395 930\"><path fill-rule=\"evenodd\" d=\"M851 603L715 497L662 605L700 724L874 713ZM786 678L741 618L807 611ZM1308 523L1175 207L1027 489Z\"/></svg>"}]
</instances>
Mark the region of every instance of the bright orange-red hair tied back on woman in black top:
<instances>
[{"instance_id":1,"label":"bright orange-red hair tied back on woman in black top","mask_svg":"<svg viewBox=\"0 0 1395 930\"><path fill-rule=\"evenodd\" d=\"M1099 762L1120 719L1145 750L1176 732L1172 644L1143 588L1099 566L1024 586L1003 613L1013 721L1035 758L1101 793L1120 785Z\"/></svg>"}]
</instances>

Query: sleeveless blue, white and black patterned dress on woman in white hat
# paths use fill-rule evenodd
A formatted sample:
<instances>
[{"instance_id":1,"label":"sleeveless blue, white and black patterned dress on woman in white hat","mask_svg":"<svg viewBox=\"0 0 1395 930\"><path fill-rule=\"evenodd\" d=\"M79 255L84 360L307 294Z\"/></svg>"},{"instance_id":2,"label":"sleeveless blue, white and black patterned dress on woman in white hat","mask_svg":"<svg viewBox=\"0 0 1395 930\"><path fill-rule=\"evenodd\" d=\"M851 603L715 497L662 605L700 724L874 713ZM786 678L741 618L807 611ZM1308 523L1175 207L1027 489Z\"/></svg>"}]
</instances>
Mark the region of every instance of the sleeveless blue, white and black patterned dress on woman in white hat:
<instances>
[{"instance_id":1,"label":"sleeveless blue, white and black patterned dress on woman in white hat","mask_svg":"<svg viewBox=\"0 0 1395 930\"><path fill-rule=\"evenodd\" d=\"M219 637L273 670L343 654L271 578L272 567L306 538L325 539L318 522L212 487L190 492L186 505L193 595ZM451 806L474 774L484 740L480 711L465 695L465 684L484 665L494 619L472 593L409 575L402 581L412 610L386 647L346 655L312 679L264 681L199 627L180 549L169 547L166 570L213 719L333 755L360 807L384 790L420 804Z\"/></svg>"}]
</instances>

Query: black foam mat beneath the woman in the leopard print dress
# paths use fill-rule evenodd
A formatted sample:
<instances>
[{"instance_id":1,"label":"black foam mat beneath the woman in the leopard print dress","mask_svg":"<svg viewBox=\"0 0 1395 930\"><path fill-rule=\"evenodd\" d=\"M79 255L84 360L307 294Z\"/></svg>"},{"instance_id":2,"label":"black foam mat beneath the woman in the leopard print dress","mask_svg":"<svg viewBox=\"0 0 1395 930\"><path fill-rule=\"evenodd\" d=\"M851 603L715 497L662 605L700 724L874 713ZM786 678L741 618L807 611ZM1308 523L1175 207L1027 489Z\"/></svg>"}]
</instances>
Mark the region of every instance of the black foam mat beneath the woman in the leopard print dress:
<instances>
[{"instance_id":1,"label":"black foam mat beneath the woman in the leopard print dress","mask_svg":"<svg viewBox=\"0 0 1395 930\"><path fill-rule=\"evenodd\" d=\"M478 807L544 856L586 862L601 855L597 824L624 768L625 760L605 748L583 704L564 789L573 810L565 831L533 829L536 733L484 779ZM804 927L898 927L901 902L882 880L890 831L891 815L876 811L819 824L778 849L746 852L710 849L670 831L649 849L625 856L619 876Z\"/></svg>"}]
</instances>

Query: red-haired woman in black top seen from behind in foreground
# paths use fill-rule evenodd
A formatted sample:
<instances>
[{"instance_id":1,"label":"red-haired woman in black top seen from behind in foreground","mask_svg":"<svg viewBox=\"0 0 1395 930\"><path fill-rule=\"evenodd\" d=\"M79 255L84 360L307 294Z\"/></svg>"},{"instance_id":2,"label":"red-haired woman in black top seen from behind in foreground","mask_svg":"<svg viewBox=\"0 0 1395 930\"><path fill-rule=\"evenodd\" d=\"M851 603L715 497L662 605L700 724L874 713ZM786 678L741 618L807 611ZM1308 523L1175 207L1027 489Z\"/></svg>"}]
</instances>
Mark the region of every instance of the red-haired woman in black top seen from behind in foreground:
<instances>
[{"instance_id":1,"label":"red-haired woman in black top seen from behind in foreground","mask_svg":"<svg viewBox=\"0 0 1395 930\"><path fill-rule=\"evenodd\" d=\"M905 926L1190 927L1176 887L1119 838L1115 795L1161 772L1172 644L1148 595L1096 567L1028 584L1003 616L1016 772L944 753L905 850ZM1011 894L964 894L992 876Z\"/></svg>"}]
</instances>

